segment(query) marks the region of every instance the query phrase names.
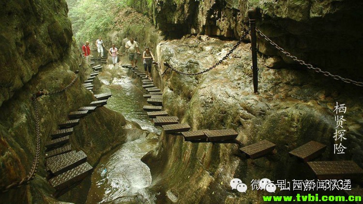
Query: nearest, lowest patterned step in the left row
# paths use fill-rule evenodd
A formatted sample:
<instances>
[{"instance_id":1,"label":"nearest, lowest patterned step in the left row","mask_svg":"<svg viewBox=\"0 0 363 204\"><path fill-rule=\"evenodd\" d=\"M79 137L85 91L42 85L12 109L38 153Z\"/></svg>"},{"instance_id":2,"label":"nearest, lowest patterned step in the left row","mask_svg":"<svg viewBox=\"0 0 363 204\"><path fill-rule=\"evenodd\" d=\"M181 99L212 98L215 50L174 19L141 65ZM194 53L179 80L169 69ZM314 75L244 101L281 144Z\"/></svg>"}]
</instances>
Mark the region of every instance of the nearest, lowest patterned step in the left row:
<instances>
[{"instance_id":1,"label":"nearest, lowest patterned step in the left row","mask_svg":"<svg viewBox=\"0 0 363 204\"><path fill-rule=\"evenodd\" d=\"M57 190L61 190L67 187L72 186L74 183L82 180L87 176L88 173L91 173L92 166L85 162L74 169L71 169L61 175L58 175L49 180L50 185Z\"/></svg>"}]
</instances>

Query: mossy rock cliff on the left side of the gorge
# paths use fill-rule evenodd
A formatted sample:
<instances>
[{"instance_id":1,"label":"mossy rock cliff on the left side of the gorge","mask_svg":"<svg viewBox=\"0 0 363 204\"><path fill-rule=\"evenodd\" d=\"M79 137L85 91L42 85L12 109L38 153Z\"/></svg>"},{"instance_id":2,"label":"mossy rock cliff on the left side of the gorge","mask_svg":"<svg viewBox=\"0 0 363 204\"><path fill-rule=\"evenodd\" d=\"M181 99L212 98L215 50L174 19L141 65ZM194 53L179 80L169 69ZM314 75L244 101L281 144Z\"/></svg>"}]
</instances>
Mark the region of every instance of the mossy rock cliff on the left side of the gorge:
<instances>
[{"instance_id":1,"label":"mossy rock cliff on the left side of the gorge","mask_svg":"<svg viewBox=\"0 0 363 204\"><path fill-rule=\"evenodd\" d=\"M56 203L45 177L45 147L50 133L68 113L95 100L81 83L91 68L82 64L72 39L64 0L3 1L0 23L0 183L20 180L30 170L36 149L35 115L30 97L39 90L65 92L37 99L41 130L38 170L30 185L0 193L0 203ZM91 165L125 141L122 115L99 108L81 120L71 136L74 150L83 150Z\"/></svg>"}]
</instances>

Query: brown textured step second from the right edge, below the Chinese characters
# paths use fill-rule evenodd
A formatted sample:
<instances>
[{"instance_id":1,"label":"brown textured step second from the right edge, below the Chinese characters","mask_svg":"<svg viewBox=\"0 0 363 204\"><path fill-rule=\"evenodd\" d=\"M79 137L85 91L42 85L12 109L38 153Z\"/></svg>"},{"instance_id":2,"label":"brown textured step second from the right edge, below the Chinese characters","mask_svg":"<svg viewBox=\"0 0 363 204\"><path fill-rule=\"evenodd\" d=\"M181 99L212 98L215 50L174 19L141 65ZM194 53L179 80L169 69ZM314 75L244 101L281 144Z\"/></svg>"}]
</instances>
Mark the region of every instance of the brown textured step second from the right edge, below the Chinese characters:
<instances>
[{"instance_id":1,"label":"brown textured step second from the right edge, below the Chinese characters","mask_svg":"<svg viewBox=\"0 0 363 204\"><path fill-rule=\"evenodd\" d=\"M323 154L325 149L325 144L316 141L309 141L306 144L292 150L291 152L289 152L289 154L295 157L299 157L306 162Z\"/></svg>"}]
</instances>

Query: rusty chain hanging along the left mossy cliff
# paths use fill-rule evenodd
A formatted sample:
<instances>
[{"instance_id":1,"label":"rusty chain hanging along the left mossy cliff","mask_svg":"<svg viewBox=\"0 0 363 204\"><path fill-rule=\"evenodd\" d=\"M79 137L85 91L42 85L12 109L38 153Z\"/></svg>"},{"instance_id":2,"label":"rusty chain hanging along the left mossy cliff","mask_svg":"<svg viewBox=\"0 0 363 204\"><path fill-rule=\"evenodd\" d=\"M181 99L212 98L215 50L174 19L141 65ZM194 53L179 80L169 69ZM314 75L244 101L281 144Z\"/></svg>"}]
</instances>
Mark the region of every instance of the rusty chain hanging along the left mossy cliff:
<instances>
[{"instance_id":1,"label":"rusty chain hanging along the left mossy cliff","mask_svg":"<svg viewBox=\"0 0 363 204\"><path fill-rule=\"evenodd\" d=\"M75 71L76 74L78 74L78 70ZM66 87L64 87L63 89L61 89L60 91L54 91L54 92L43 92L43 91L39 91L35 94L32 94L31 96L31 101L33 103L34 106L34 112L35 112L35 129L36 129L36 150L35 150L35 156L31 165L31 168L29 170L29 173L22 178L20 181L15 181L13 183L11 183L8 186L3 186L0 188L0 192L4 193L12 188L17 188L17 187L21 187L23 185L28 185L30 180L32 180L35 176L35 173L38 169L38 164L39 164L39 156L40 156L40 127L39 127L39 114L38 114L38 105L36 103L36 99L42 95L51 95L51 94L58 94L61 92L64 92L65 90L67 90L70 86L72 86L76 80L78 78L78 75L76 75L76 78L73 79L73 81L68 84Z\"/></svg>"}]
</instances>

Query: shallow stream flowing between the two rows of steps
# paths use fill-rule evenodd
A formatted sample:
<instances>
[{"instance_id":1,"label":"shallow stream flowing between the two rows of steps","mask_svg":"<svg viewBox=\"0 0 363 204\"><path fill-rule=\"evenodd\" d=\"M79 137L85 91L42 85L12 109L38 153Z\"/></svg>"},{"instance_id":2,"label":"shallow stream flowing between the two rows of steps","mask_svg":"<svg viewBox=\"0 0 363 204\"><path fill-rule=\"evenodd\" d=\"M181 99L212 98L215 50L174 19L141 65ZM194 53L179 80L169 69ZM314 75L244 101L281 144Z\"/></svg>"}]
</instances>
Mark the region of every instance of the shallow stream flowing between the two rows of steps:
<instances>
[{"instance_id":1,"label":"shallow stream flowing between the two rows of steps","mask_svg":"<svg viewBox=\"0 0 363 204\"><path fill-rule=\"evenodd\" d=\"M120 68L117 73L112 79L99 76L112 93L106 107L120 112L126 120L136 122L142 129L160 134L161 129L153 126L142 109L147 103L144 93L133 83L135 79L127 76L127 69ZM140 134L140 138L126 142L102 157L91 176L87 203L154 203L155 196L147 189L151 185L150 169L140 159L156 149L157 142L157 135L145 138Z\"/></svg>"}]
</instances>

